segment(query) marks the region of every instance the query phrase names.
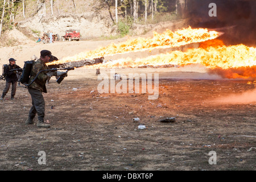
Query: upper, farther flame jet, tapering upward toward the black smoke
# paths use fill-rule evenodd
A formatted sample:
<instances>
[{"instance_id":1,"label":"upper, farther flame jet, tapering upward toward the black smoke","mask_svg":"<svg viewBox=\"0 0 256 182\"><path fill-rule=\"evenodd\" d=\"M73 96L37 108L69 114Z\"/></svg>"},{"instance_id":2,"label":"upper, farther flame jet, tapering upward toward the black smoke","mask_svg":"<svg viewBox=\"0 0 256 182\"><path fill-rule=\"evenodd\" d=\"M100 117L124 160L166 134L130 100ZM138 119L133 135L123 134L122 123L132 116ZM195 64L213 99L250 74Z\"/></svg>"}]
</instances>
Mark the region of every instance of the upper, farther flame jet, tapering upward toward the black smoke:
<instances>
[{"instance_id":1,"label":"upper, farther flame jet, tapering upward toward the black smoke","mask_svg":"<svg viewBox=\"0 0 256 182\"><path fill-rule=\"evenodd\" d=\"M179 47L190 43L199 43L206 40L212 40L218 37L218 32L208 31L207 28L183 28L172 32L166 30L163 34L154 32L153 38L136 38L128 39L120 44L110 44L106 47L98 48L94 51L82 52L76 56L66 57L63 60L54 61L51 64L61 64L71 61L79 61L85 59L94 59L102 56L110 56L117 53L127 53L136 51L145 51L154 48Z\"/></svg>"}]
</instances>

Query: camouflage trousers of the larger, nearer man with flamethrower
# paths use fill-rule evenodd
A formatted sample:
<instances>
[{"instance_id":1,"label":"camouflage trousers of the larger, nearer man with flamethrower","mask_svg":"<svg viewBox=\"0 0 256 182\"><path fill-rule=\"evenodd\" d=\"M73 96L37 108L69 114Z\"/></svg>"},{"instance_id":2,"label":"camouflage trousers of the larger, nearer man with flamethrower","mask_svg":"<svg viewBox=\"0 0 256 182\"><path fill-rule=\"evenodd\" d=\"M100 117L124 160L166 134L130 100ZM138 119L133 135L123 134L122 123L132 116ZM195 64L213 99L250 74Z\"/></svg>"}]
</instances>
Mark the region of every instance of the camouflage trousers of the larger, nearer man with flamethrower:
<instances>
[{"instance_id":1,"label":"camouflage trousers of the larger, nearer man with flamethrower","mask_svg":"<svg viewBox=\"0 0 256 182\"><path fill-rule=\"evenodd\" d=\"M46 102L44 102L42 92L32 88L28 88L28 92L32 98L32 107L28 117L33 119L36 113L38 113L38 121L44 121L44 107L46 106Z\"/></svg>"}]
</instances>

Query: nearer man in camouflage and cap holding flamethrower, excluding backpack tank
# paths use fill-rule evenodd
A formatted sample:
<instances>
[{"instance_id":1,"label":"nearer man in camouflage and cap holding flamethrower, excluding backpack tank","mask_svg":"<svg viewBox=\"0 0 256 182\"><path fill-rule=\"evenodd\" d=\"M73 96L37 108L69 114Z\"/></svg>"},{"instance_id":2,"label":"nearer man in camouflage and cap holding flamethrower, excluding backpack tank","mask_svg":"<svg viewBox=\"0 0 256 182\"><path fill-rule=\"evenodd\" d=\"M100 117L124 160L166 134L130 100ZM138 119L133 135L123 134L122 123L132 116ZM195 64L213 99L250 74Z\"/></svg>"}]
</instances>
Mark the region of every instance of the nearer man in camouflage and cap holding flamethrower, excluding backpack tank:
<instances>
[{"instance_id":1,"label":"nearer man in camouflage and cap holding flamethrower, excluding backpack tank","mask_svg":"<svg viewBox=\"0 0 256 182\"><path fill-rule=\"evenodd\" d=\"M47 93L46 81L53 75L66 77L66 72L57 71L57 69L48 69L46 63L51 59L52 53L48 50L40 52L40 58L32 65L31 77L28 82L28 92L32 98L32 107L28 114L26 125L34 124L34 118L38 113L38 127L50 127L49 124L44 123L45 102L43 92Z\"/></svg>"}]
</instances>

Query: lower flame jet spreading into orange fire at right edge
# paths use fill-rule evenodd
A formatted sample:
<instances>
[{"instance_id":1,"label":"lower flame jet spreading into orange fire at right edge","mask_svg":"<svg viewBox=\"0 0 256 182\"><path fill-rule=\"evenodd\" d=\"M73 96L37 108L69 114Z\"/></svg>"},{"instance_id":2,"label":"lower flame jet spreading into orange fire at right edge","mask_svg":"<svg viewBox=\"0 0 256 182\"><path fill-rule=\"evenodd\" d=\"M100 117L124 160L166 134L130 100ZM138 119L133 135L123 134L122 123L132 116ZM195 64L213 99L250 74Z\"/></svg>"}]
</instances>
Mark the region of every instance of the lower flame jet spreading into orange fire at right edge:
<instances>
[{"instance_id":1,"label":"lower flame jet spreading into orange fire at right edge","mask_svg":"<svg viewBox=\"0 0 256 182\"><path fill-rule=\"evenodd\" d=\"M172 51L166 54L146 57L145 59L121 59L109 61L93 68L134 68L143 65L189 65L201 64L222 73L228 78L256 77L256 49L243 44L237 46L217 46L206 48L191 48L185 52ZM230 72L230 73L229 73Z\"/></svg>"}]
</instances>

